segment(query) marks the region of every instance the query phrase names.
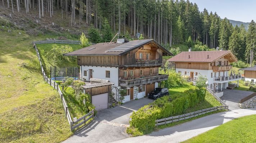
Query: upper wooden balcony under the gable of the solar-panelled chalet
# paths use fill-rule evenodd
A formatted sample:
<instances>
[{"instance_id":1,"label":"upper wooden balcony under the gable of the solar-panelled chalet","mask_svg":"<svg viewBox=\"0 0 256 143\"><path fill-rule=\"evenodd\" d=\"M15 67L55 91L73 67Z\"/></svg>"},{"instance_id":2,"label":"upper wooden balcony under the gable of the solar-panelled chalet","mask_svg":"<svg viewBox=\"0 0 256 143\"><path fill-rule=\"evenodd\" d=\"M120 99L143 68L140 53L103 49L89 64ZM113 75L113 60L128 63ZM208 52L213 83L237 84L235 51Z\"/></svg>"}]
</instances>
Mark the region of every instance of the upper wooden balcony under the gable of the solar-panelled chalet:
<instances>
[{"instance_id":1,"label":"upper wooden balcony under the gable of the solar-panelled chalet","mask_svg":"<svg viewBox=\"0 0 256 143\"><path fill-rule=\"evenodd\" d=\"M162 62L160 60L136 60L135 63L131 65L121 65L123 67L143 67L143 66L161 66Z\"/></svg>"}]
</instances>

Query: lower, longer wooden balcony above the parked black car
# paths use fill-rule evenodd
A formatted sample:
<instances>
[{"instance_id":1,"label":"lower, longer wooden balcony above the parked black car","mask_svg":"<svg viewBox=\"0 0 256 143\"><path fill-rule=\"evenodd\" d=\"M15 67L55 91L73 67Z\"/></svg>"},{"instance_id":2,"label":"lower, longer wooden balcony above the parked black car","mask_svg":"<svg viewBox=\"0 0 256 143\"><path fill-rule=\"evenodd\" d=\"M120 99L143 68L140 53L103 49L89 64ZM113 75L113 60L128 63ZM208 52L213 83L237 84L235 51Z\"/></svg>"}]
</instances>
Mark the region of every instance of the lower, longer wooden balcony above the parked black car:
<instances>
[{"instance_id":1,"label":"lower, longer wooden balcony above the parked black car","mask_svg":"<svg viewBox=\"0 0 256 143\"><path fill-rule=\"evenodd\" d=\"M119 86L120 87L134 87L134 86L140 86L155 82L161 82L163 80L167 80L168 75L166 74L159 74L155 76L149 76L149 77L143 77L143 78L136 78L136 79L119 79Z\"/></svg>"}]
</instances>

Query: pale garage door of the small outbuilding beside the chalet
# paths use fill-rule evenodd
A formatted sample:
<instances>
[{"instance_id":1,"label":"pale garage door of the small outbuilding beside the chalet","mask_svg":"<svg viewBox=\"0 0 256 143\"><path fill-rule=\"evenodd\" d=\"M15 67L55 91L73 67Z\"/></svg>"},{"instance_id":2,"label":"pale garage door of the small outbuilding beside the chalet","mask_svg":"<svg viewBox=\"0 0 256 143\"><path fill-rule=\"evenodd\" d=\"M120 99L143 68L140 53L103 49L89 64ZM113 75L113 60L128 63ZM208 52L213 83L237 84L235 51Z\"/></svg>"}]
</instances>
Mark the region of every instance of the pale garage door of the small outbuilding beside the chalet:
<instances>
[{"instance_id":1,"label":"pale garage door of the small outbuilding beside the chalet","mask_svg":"<svg viewBox=\"0 0 256 143\"><path fill-rule=\"evenodd\" d=\"M95 106L96 110L108 108L108 93L93 95L92 104Z\"/></svg>"}]
</instances>

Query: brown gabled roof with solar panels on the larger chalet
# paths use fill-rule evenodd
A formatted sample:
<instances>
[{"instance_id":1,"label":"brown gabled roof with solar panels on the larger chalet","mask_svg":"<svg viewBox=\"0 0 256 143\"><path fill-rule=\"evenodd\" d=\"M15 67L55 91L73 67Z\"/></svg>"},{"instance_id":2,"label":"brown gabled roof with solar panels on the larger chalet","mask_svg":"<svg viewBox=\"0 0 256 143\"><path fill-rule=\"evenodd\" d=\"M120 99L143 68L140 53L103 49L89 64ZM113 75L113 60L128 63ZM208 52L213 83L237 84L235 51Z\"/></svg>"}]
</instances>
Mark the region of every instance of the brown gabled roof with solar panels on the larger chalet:
<instances>
[{"instance_id":1,"label":"brown gabled roof with solar panels on the larger chalet","mask_svg":"<svg viewBox=\"0 0 256 143\"><path fill-rule=\"evenodd\" d=\"M140 48L143 45L154 43L157 47L164 51L163 55L173 55L168 50L166 50L163 46L158 44L153 39L147 40L133 40L127 43L98 43L95 45L90 45L86 48L82 48L76 51L72 51L70 53L64 54L64 56L79 56L79 55L123 55L128 53L131 50L136 48Z\"/></svg>"}]
</instances>

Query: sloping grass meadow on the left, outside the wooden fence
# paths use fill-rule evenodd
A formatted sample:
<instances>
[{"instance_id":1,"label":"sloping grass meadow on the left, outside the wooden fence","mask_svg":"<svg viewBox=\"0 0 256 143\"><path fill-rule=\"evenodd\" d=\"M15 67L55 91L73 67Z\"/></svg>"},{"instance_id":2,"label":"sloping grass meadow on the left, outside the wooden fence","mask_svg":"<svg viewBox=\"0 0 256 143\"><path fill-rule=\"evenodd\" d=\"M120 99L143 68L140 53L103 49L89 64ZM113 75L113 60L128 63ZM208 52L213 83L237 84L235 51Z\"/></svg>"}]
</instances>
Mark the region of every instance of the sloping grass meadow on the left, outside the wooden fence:
<instances>
[{"instance_id":1,"label":"sloping grass meadow on the left, outside the wooden fence","mask_svg":"<svg viewBox=\"0 0 256 143\"><path fill-rule=\"evenodd\" d=\"M0 142L61 142L73 133L56 90L44 82L32 37L0 35ZM21 34L18 34L18 33ZM56 38L56 37L55 37Z\"/></svg>"}]
</instances>

